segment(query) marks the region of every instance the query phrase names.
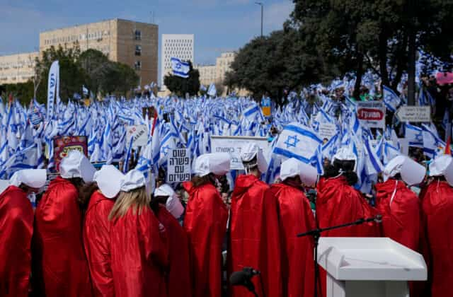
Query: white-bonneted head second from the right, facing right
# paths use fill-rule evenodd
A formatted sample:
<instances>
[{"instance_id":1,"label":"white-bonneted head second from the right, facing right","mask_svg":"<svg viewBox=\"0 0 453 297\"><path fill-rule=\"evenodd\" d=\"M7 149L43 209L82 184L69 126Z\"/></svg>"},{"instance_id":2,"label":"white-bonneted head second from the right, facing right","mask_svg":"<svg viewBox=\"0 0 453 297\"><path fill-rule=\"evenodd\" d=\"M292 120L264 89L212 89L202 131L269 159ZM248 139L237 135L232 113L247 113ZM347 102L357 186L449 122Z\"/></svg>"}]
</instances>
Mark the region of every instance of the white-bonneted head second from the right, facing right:
<instances>
[{"instance_id":1,"label":"white-bonneted head second from the right, facing right","mask_svg":"<svg viewBox=\"0 0 453 297\"><path fill-rule=\"evenodd\" d=\"M407 185L418 185L423 182L426 170L423 165L413 161L407 156L396 156L384 168L384 181L389 178L403 180Z\"/></svg>"}]
</instances>

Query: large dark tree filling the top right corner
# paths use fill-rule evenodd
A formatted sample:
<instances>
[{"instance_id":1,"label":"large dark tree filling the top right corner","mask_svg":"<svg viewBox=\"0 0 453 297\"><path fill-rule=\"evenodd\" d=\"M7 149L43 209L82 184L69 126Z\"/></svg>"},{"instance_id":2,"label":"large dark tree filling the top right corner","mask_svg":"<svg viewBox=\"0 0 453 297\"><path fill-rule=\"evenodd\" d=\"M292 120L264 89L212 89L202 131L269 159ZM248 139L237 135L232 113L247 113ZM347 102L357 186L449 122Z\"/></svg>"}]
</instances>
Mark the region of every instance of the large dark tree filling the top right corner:
<instances>
[{"instance_id":1,"label":"large dark tree filling the top right corner","mask_svg":"<svg viewBox=\"0 0 453 297\"><path fill-rule=\"evenodd\" d=\"M382 84L396 91L408 70L411 37L413 50L422 47L448 59L452 52L451 0L294 0L294 4L291 21L304 40L304 50L342 75L354 71L355 91L365 69L372 69Z\"/></svg>"}]
</instances>

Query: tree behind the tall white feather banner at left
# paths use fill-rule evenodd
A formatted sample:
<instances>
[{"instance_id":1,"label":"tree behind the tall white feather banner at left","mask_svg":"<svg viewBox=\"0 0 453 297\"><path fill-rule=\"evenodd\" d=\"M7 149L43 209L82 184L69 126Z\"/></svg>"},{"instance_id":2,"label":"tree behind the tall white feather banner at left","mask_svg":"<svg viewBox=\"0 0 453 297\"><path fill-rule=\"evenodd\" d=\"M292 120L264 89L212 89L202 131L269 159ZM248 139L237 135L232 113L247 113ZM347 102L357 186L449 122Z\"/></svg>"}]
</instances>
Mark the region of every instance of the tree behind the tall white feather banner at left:
<instances>
[{"instance_id":1,"label":"tree behind the tall white feather banner at left","mask_svg":"<svg viewBox=\"0 0 453 297\"><path fill-rule=\"evenodd\" d=\"M36 60L35 71L40 74L40 85L38 86L38 102L43 103L47 99L47 77L49 76L52 62L59 61L59 96L63 101L72 98L74 93L81 93L85 79L84 69L78 62L80 56L79 46L74 48L50 47L42 52L40 59ZM44 82L44 83L43 83Z\"/></svg>"}]
</instances>

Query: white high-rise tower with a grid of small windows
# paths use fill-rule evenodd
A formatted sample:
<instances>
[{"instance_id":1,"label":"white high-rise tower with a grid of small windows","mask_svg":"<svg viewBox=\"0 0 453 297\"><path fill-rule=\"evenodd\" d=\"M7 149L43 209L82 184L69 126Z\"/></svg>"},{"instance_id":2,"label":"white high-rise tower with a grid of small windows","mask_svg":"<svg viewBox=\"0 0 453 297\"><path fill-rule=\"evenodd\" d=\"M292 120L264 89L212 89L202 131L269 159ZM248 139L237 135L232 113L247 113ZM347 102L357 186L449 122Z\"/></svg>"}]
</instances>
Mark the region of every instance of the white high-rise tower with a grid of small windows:
<instances>
[{"instance_id":1,"label":"white high-rise tower with a grid of small windows","mask_svg":"<svg viewBox=\"0 0 453 297\"><path fill-rule=\"evenodd\" d=\"M161 44L161 89L166 90L164 76L171 73L171 58L194 62L193 34L162 34Z\"/></svg>"}]
</instances>

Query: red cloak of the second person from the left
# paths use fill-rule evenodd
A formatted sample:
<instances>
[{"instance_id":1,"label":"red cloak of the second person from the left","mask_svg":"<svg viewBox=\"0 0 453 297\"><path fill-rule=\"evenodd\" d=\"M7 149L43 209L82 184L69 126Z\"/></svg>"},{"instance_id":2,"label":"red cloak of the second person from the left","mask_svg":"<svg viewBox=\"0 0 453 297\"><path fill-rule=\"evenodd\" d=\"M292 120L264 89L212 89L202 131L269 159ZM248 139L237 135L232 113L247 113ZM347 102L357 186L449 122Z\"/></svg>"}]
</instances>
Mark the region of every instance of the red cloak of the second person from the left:
<instances>
[{"instance_id":1,"label":"red cloak of the second person from the left","mask_svg":"<svg viewBox=\"0 0 453 297\"><path fill-rule=\"evenodd\" d=\"M77 197L76 187L57 177L36 208L33 276L47 297L92 295Z\"/></svg>"}]
</instances>

